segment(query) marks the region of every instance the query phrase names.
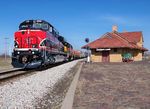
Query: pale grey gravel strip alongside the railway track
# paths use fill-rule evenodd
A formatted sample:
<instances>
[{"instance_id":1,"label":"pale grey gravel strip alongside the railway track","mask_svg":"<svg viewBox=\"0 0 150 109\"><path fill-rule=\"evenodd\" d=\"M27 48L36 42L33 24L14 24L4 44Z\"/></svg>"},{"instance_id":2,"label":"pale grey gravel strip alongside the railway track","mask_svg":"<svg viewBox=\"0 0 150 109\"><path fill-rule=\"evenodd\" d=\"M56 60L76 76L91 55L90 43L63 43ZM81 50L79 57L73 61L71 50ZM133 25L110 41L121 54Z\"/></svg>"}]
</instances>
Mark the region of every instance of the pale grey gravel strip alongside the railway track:
<instances>
[{"instance_id":1,"label":"pale grey gravel strip alongside the railway track","mask_svg":"<svg viewBox=\"0 0 150 109\"><path fill-rule=\"evenodd\" d=\"M54 85L77 64L69 62L0 86L1 108L34 108L36 101L53 90Z\"/></svg>"}]
</instances>

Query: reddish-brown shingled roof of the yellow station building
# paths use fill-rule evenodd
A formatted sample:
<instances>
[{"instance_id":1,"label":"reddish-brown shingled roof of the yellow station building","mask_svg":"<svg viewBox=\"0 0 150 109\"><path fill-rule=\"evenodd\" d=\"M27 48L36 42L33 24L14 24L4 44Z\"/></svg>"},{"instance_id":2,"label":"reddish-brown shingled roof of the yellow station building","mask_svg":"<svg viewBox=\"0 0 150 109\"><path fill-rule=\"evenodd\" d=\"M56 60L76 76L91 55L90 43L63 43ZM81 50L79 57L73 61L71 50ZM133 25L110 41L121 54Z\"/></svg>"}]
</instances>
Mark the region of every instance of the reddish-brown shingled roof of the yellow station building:
<instances>
[{"instance_id":1,"label":"reddish-brown shingled roof of the yellow station building","mask_svg":"<svg viewBox=\"0 0 150 109\"><path fill-rule=\"evenodd\" d=\"M91 49L96 48L131 48L140 49L146 51L144 47L139 47L136 45L143 38L142 32L111 32L106 33L99 39L83 46L86 48L89 46Z\"/></svg>"}]
</instances>

